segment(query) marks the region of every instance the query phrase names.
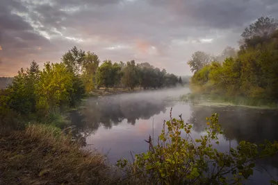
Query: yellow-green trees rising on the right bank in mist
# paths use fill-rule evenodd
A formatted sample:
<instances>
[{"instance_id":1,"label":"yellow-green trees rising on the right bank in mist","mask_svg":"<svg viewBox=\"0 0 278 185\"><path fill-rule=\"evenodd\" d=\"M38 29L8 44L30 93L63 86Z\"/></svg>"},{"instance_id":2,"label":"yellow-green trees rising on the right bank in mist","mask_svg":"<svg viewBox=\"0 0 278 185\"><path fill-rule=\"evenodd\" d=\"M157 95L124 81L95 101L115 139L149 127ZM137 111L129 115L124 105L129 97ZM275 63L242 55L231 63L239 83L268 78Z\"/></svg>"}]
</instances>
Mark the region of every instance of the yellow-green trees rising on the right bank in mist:
<instances>
[{"instance_id":1,"label":"yellow-green trees rising on the right bank in mist","mask_svg":"<svg viewBox=\"0 0 278 185\"><path fill-rule=\"evenodd\" d=\"M188 61L193 91L277 100L277 19L260 17L241 37L238 51L229 47L217 58L202 51L193 54Z\"/></svg>"}]
</instances>

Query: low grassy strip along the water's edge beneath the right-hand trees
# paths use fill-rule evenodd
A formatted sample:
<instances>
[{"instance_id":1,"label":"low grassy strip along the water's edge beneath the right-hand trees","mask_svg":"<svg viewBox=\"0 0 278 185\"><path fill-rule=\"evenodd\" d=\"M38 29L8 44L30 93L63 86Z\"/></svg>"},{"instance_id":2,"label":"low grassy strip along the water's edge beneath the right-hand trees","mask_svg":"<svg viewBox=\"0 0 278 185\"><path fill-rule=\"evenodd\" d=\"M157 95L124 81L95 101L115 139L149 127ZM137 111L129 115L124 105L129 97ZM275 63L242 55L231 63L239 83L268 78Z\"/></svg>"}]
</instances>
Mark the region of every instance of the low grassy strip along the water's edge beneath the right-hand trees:
<instances>
[{"instance_id":1,"label":"low grassy strip along the water's edge beneath the right-hand trees","mask_svg":"<svg viewBox=\"0 0 278 185\"><path fill-rule=\"evenodd\" d=\"M263 109L277 109L278 104L274 100L220 96L216 94L185 94L180 100L202 106L240 106Z\"/></svg>"}]
</instances>

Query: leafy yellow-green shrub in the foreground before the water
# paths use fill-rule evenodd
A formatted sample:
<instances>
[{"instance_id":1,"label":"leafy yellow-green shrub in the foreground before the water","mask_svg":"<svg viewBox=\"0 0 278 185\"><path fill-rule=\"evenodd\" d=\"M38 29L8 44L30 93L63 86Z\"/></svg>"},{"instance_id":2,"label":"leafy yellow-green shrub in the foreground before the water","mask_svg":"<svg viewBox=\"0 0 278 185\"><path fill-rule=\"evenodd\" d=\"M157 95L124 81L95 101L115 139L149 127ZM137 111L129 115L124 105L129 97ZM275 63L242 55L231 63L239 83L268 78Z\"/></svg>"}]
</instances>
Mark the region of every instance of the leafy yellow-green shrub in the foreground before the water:
<instances>
[{"instance_id":1,"label":"leafy yellow-green shrub in the foreground before the water","mask_svg":"<svg viewBox=\"0 0 278 185\"><path fill-rule=\"evenodd\" d=\"M192 125L179 117L172 118L171 109L170 121L164 123L156 145L149 136L148 152L136 155L132 164L127 159L117 161L126 173L124 179L145 184L240 184L253 175L257 159L278 152L277 142L258 147L246 141L229 152L219 152L213 147L222 134L218 114L206 118L206 135L195 140ZM277 184L274 179L270 183Z\"/></svg>"}]
</instances>

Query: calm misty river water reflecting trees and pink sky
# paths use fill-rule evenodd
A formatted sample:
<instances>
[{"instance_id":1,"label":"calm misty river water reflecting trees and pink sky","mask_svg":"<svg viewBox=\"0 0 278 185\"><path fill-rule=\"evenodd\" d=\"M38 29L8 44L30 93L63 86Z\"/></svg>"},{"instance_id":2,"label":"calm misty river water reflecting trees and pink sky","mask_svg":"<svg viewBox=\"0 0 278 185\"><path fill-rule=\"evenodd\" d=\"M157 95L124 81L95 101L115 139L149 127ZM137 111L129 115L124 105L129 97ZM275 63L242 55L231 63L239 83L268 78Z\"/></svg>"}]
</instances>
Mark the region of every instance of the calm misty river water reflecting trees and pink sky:
<instances>
[{"instance_id":1,"label":"calm misty river water reflecting trees and pink sky","mask_svg":"<svg viewBox=\"0 0 278 185\"><path fill-rule=\"evenodd\" d=\"M211 107L174 101L189 89L168 89L134 94L120 94L89 98L79 112L72 114L72 123L86 137L87 148L97 148L115 164L117 159L131 159L131 152L146 152L145 139L157 138L163 121L182 118L193 124L193 138L204 135L206 117L219 113L224 134L218 136L220 151L229 151L242 140L263 143L265 139L278 141L277 110L243 107ZM254 175L245 184L269 184L278 179L278 157L257 161Z\"/></svg>"}]
</instances>

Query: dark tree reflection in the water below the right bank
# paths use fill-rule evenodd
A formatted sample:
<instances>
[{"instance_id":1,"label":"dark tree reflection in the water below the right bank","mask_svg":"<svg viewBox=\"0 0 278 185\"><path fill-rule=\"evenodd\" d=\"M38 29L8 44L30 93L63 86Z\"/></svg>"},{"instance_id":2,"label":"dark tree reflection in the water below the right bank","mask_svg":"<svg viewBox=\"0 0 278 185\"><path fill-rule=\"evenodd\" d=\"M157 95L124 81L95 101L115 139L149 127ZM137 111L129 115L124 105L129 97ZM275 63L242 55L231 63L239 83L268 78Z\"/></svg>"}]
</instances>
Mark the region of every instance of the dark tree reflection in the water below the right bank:
<instances>
[{"instance_id":1,"label":"dark tree reflection in the water below the right bank","mask_svg":"<svg viewBox=\"0 0 278 185\"><path fill-rule=\"evenodd\" d=\"M270 109L248 109L243 107L191 107L189 122L196 132L202 132L207 116L217 112L219 123L227 140L263 143L278 141L278 112Z\"/></svg>"}]
</instances>

